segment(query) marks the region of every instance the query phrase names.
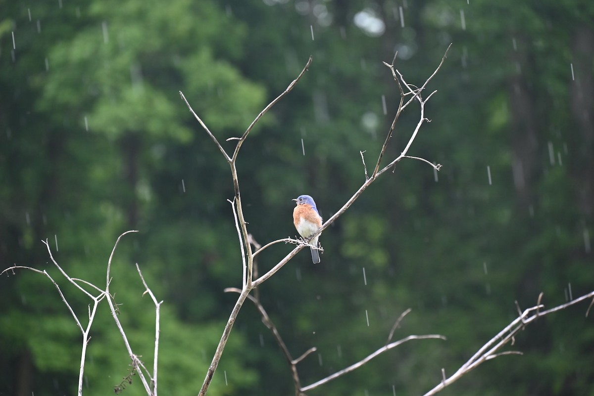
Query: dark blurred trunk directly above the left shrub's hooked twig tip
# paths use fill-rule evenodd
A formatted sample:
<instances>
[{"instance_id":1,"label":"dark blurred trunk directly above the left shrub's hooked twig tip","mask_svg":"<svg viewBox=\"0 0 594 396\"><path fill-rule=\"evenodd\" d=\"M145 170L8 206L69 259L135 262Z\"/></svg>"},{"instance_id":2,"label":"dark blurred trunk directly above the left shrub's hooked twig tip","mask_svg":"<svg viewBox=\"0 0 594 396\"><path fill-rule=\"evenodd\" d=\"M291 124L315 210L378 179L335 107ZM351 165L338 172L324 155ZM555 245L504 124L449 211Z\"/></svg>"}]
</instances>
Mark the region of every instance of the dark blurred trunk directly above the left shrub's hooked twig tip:
<instances>
[{"instance_id":1,"label":"dark blurred trunk directly above the left shrub's hooked twig tip","mask_svg":"<svg viewBox=\"0 0 594 396\"><path fill-rule=\"evenodd\" d=\"M138 209L138 197L136 192L139 177L140 144L140 139L134 132L126 133L122 138L124 180L128 190L123 194L125 197L124 208L128 220L127 225L131 229L134 229L137 226L140 212Z\"/></svg>"}]
</instances>

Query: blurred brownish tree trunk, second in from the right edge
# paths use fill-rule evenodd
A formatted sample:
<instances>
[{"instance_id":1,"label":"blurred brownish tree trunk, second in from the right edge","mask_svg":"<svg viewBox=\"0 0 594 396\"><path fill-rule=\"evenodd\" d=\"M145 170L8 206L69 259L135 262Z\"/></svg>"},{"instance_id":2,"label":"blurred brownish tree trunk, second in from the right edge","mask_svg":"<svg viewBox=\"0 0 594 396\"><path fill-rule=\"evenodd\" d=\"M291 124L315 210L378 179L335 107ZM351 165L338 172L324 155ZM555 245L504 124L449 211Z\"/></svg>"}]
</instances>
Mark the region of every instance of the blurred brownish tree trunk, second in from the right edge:
<instances>
[{"instance_id":1,"label":"blurred brownish tree trunk, second in from the right edge","mask_svg":"<svg viewBox=\"0 0 594 396\"><path fill-rule=\"evenodd\" d=\"M533 92L527 85L526 72L530 65L527 60L525 40L517 40L517 50L511 52L511 63L516 71L508 80L510 98L511 155L514 186L520 207L533 204L533 185L536 177L538 157L538 123L533 107ZM511 39L510 39L511 41Z\"/></svg>"}]
</instances>

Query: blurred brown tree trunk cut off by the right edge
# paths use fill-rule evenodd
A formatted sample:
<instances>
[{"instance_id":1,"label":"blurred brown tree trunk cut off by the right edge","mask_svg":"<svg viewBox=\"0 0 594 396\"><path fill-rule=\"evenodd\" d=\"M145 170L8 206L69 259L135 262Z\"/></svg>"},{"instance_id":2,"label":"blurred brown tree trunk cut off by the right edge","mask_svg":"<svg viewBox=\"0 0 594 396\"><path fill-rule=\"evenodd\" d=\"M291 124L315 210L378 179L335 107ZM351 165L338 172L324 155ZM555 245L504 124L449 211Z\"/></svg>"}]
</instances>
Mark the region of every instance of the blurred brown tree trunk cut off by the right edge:
<instances>
[{"instance_id":1,"label":"blurred brown tree trunk cut off by the right edge","mask_svg":"<svg viewBox=\"0 0 594 396\"><path fill-rule=\"evenodd\" d=\"M579 136L573 148L572 170L577 183L577 205L591 218L594 206L594 30L583 25L573 37L573 72L571 81L571 113Z\"/></svg>"}]
</instances>

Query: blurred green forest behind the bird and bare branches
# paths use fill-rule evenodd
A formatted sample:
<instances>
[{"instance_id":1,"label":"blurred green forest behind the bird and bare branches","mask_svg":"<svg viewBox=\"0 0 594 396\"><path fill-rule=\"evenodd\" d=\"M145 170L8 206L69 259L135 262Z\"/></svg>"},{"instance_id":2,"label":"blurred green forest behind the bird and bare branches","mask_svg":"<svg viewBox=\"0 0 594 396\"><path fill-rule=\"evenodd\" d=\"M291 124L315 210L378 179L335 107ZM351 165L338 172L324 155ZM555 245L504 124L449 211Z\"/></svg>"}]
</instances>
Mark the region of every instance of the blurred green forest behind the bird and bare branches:
<instances>
[{"instance_id":1,"label":"blurred green forest behind the bird and bare branches","mask_svg":"<svg viewBox=\"0 0 594 396\"><path fill-rule=\"evenodd\" d=\"M395 339L412 341L311 395L415 395L451 374L522 308L594 288L594 2L584 0L0 0L0 267L48 270L111 290L150 365L162 306L159 388L197 394L241 285L229 167L179 97L223 141L241 136L313 55L239 156L248 230L295 236L293 202L336 212L364 181L396 112L390 70L421 85L448 44L425 124L405 160L260 288L304 385ZM430 92L429 91L429 92ZM385 105L384 105L385 103ZM418 120L407 108L387 159ZM234 142L224 143L232 147ZM386 162L387 163L387 162ZM293 245L259 257L269 269ZM364 279L365 271L365 279ZM444 395L594 394L587 304L542 318ZM130 372L100 305L84 394ZM367 323L367 319L369 324ZM75 394L80 331L46 277L0 278L0 395ZM289 366L247 302L209 395L290 395ZM129 396L144 389L136 381Z\"/></svg>"}]
</instances>

